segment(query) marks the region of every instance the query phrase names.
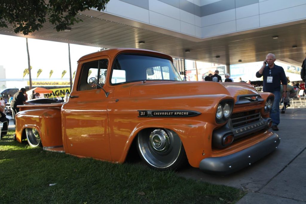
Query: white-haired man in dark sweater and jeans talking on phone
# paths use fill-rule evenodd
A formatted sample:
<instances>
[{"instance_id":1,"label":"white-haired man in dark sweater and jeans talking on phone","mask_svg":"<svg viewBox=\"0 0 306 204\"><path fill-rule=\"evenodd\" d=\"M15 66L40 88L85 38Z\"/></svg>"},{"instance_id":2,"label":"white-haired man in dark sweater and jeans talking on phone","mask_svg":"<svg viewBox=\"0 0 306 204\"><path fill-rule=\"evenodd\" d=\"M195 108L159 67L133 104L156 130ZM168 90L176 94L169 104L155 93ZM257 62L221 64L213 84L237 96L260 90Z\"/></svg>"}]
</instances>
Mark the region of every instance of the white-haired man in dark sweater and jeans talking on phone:
<instances>
[{"instance_id":1,"label":"white-haired man in dark sweater and jeans talking on phone","mask_svg":"<svg viewBox=\"0 0 306 204\"><path fill-rule=\"evenodd\" d=\"M267 54L266 59L263 61L263 66L256 72L256 77L263 76L263 91L274 94L274 102L270 111L272 119L272 130L278 130L279 119L279 101L282 97L287 96L287 79L285 71L281 66L275 65L276 58L272 53ZM283 92L280 92L280 85L283 85Z\"/></svg>"}]
</instances>

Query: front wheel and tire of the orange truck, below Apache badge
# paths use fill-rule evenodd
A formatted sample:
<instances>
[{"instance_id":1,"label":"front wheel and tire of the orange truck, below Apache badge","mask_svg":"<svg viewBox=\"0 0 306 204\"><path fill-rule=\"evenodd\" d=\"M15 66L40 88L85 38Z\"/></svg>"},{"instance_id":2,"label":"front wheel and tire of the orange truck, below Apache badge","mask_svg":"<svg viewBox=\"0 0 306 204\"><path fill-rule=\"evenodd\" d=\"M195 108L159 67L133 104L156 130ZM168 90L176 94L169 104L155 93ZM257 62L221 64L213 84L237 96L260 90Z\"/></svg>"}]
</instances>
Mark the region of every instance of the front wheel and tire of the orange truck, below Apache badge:
<instances>
[{"instance_id":1,"label":"front wheel and tire of the orange truck, below Apache badge","mask_svg":"<svg viewBox=\"0 0 306 204\"><path fill-rule=\"evenodd\" d=\"M137 137L137 150L142 160L153 169L177 170L187 164L180 137L167 129L141 131Z\"/></svg>"}]
</instances>

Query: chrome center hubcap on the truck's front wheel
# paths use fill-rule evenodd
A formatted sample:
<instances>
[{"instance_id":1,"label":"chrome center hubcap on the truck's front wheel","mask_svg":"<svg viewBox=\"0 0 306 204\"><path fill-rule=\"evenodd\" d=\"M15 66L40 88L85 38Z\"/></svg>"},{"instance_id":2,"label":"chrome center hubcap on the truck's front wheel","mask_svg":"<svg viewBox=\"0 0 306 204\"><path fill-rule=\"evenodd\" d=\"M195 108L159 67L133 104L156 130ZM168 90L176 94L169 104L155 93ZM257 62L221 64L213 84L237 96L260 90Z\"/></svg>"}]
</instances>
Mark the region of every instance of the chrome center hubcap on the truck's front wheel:
<instances>
[{"instance_id":1,"label":"chrome center hubcap on the truck's front wheel","mask_svg":"<svg viewBox=\"0 0 306 204\"><path fill-rule=\"evenodd\" d=\"M154 130L150 135L150 145L158 152L167 151L170 145L167 133L162 129Z\"/></svg>"}]
</instances>

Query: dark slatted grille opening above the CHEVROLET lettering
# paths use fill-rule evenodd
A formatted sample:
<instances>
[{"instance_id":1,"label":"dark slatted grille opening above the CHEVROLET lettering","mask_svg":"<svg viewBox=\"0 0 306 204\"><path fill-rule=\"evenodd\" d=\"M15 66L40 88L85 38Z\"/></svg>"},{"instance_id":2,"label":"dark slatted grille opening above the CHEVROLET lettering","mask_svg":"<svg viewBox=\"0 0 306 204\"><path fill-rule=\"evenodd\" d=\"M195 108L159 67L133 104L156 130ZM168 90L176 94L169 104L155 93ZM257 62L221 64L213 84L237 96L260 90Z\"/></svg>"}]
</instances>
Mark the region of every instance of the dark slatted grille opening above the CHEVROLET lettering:
<instances>
[{"instance_id":1,"label":"dark slatted grille opening above the CHEVROLET lettering","mask_svg":"<svg viewBox=\"0 0 306 204\"><path fill-rule=\"evenodd\" d=\"M259 121L260 118L259 109L233 113L231 116L233 128Z\"/></svg>"}]
</instances>

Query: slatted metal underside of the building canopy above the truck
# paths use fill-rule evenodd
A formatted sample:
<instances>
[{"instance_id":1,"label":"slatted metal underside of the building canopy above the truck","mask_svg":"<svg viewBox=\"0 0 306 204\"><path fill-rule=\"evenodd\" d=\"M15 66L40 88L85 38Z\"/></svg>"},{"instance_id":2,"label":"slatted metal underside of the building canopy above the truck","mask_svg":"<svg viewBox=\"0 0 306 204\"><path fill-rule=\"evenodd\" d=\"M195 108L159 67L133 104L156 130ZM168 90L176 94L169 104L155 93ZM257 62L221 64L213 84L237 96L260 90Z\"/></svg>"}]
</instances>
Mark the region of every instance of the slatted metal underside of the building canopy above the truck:
<instances>
[{"instance_id":1,"label":"slatted metal underside of the building canopy above the truck","mask_svg":"<svg viewBox=\"0 0 306 204\"><path fill-rule=\"evenodd\" d=\"M75 24L69 32L56 32L50 23L31 33L29 38L83 44L104 48L142 48L169 54L173 57L215 62L218 64L238 64L263 61L268 53L277 59L300 65L306 51L306 23L282 25L249 33L236 33L211 39L175 37L152 30L121 24L110 20L79 14L83 22ZM0 34L17 35L13 28L0 28ZM278 35L278 39L272 36ZM145 41L139 44L139 41ZM292 46L297 46L293 48ZM186 53L185 50L190 52ZM220 56L216 58L215 56ZM242 60L242 62L238 62Z\"/></svg>"}]
</instances>

